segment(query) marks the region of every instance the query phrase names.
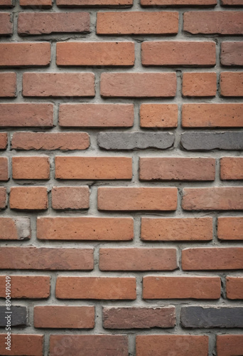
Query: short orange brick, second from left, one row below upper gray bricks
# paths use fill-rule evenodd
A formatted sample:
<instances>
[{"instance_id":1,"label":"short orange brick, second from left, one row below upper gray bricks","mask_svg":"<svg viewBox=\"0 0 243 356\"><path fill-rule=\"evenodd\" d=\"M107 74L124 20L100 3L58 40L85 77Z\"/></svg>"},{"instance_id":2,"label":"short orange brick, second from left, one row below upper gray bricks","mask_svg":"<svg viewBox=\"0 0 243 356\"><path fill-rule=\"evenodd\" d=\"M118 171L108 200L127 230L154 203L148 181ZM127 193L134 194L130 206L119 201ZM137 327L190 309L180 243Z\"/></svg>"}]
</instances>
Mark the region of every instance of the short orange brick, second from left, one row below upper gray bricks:
<instances>
[{"instance_id":1,"label":"short orange brick, second from left, one row below upper gray bricks","mask_svg":"<svg viewBox=\"0 0 243 356\"><path fill-rule=\"evenodd\" d=\"M45 156L13 157L13 179L50 179L50 159Z\"/></svg>"}]
</instances>

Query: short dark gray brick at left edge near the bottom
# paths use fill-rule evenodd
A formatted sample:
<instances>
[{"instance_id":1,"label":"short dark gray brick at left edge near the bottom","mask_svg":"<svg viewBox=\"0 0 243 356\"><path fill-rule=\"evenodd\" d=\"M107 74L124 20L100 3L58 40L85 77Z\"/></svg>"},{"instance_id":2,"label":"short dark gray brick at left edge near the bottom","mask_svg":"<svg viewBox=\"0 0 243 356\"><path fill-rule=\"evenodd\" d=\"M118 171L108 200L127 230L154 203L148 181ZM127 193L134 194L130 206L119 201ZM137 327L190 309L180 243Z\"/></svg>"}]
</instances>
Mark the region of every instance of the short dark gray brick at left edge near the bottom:
<instances>
[{"instance_id":1,"label":"short dark gray brick at left edge near the bottom","mask_svg":"<svg viewBox=\"0 0 243 356\"><path fill-rule=\"evenodd\" d=\"M11 306L12 313L5 313L8 312L6 310L6 306L0 307L0 327L6 327L7 319L5 318L7 315L11 315L11 327L13 326L27 326L27 308L21 307L18 305Z\"/></svg>"}]
</instances>

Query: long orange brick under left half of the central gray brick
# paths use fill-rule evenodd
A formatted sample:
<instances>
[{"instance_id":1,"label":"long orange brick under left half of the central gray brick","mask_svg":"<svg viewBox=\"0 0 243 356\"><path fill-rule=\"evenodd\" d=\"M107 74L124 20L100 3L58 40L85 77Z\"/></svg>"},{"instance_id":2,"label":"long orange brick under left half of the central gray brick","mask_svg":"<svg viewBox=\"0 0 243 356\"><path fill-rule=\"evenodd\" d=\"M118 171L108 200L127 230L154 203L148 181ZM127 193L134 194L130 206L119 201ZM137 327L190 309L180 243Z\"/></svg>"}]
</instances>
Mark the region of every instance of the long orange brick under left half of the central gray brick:
<instances>
[{"instance_id":1,"label":"long orange brick under left half of the central gray brick","mask_svg":"<svg viewBox=\"0 0 243 356\"><path fill-rule=\"evenodd\" d=\"M130 157L55 157L56 179L131 179Z\"/></svg>"}]
</instances>

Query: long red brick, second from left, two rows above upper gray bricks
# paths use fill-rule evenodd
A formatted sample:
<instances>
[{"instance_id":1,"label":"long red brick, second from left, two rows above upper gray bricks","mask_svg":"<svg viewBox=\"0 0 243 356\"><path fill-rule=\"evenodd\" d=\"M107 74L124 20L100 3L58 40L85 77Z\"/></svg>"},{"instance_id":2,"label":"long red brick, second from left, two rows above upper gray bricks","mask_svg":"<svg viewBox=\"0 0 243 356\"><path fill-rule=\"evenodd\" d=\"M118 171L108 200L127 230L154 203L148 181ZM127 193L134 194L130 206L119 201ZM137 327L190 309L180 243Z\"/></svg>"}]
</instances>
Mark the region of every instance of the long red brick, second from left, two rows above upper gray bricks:
<instances>
[{"instance_id":1,"label":"long red brick, second from left, two rows above upper gray bricks","mask_svg":"<svg viewBox=\"0 0 243 356\"><path fill-rule=\"evenodd\" d=\"M92 97L95 96L93 73L23 73L23 96Z\"/></svg>"}]
</instances>

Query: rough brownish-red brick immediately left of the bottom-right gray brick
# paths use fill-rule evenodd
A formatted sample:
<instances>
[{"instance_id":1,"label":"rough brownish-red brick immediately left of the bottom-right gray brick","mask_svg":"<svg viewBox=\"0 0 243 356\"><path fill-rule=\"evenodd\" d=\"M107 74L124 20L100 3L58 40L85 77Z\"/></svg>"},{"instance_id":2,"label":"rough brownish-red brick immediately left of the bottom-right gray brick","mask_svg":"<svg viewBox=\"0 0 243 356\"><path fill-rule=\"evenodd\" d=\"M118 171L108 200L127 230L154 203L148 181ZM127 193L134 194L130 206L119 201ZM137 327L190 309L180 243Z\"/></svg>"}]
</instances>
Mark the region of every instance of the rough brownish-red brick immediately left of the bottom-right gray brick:
<instances>
[{"instance_id":1,"label":"rough brownish-red brick immediately left of the bottom-right gray brick","mask_svg":"<svg viewBox=\"0 0 243 356\"><path fill-rule=\"evenodd\" d=\"M103 327L106 329L173 328L175 307L163 308L103 308Z\"/></svg>"}]
</instances>

